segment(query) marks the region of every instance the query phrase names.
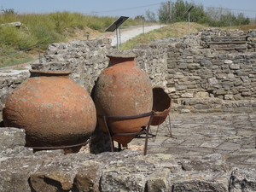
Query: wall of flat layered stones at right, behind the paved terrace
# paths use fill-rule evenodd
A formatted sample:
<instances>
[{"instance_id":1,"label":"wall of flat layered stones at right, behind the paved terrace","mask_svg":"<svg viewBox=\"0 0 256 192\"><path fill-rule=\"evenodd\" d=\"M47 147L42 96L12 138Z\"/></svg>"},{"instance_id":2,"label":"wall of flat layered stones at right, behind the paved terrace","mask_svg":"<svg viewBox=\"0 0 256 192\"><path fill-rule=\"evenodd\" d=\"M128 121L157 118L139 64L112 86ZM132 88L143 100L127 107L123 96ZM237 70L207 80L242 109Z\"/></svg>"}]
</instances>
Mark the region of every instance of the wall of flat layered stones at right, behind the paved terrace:
<instances>
[{"instance_id":1,"label":"wall of flat layered stones at right, behind the paved terrace","mask_svg":"<svg viewBox=\"0 0 256 192\"><path fill-rule=\"evenodd\" d=\"M254 37L253 31L209 29L135 49L165 49L166 88L175 111L254 112L256 54L248 37Z\"/></svg>"}]
</instances>

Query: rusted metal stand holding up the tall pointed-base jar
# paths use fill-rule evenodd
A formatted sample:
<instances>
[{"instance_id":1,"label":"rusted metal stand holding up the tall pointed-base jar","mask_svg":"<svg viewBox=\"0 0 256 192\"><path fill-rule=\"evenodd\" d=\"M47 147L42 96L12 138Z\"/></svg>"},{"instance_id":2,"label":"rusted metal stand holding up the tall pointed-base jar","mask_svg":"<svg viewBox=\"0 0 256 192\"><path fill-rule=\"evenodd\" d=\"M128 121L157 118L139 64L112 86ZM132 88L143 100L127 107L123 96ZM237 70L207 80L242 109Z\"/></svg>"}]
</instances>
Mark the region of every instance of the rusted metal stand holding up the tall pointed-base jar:
<instances>
[{"instance_id":1,"label":"rusted metal stand holding up the tall pointed-base jar","mask_svg":"<svg viewBox=\"0 0 256 192\"><path fill-rule=\"evenodd\" d=\"M113 144L113 136L137 136L137 135L142 135L146 134L145 138L145 146L144 146L144 155L147 154L147 148L148 148L148 131L150 129L150 124L151 121L154 117L154 112L148 112L148 113L143 113L143 114L137 114L137 115L131 115L131 116L104 116L104 115L97 115L98 117L101 117L104 119L104 123L108 129L108 137L111 143L111 151L114 152L114 144ZM144 118L150 116L150 119L148 121L148 125L146 127L142 127L142 131L139 132L131 132L131 133L113 133L111 130L111 127L109 126L109 119L138 119L138 118ZM119 143L119 148L121 148L121 145Z\"/></svg>"}]
</instances>

